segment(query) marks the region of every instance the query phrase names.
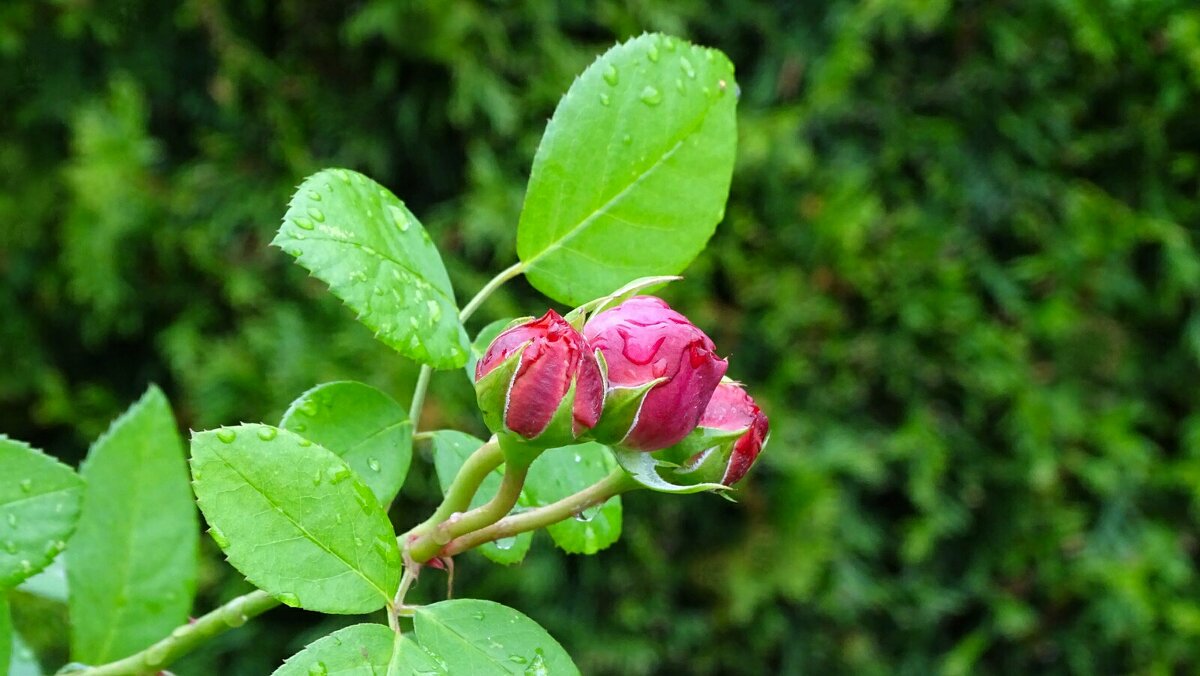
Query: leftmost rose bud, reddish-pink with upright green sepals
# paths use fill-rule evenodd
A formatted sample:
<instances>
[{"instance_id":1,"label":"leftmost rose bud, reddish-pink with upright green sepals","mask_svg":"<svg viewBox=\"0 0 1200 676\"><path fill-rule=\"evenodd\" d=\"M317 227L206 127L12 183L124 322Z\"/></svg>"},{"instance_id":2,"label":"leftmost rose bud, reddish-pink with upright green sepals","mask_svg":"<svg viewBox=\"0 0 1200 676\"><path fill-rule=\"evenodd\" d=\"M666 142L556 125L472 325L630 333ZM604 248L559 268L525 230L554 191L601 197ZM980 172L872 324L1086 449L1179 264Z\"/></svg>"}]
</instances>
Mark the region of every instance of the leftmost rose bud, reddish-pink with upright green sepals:
<instances>
[{"instance_id":1,"label":"leftmost rose bud, reddish-pink with upright green sepals","mask_svg":"<svg viewBox=\"0 0 1200 676\"><path fill-rule=\"evenodd\" d=\"M588 341L548 310L496 336L475 365L475 394L493 432L548 448L596 424L604 381Z\"/></svg>"}]
</instances>

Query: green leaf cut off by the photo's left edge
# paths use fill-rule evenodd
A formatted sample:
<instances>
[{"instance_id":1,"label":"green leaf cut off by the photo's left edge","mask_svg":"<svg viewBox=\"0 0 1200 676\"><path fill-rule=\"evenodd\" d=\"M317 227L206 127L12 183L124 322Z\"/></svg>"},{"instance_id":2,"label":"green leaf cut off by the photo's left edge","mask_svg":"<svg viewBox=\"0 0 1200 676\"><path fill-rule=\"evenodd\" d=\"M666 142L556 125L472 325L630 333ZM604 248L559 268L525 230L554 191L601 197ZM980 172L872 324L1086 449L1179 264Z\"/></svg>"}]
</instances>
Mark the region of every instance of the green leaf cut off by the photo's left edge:
<instances>
[{"instance_id":1,"label":"green leaf cut off by the photo's left edge","mask_svg":"<svg viewBox=\"0 0 1200 676\"><path fill-rule=\"evenodd\" d=\"M83 480L28 444L0 435L0 593L46 568L79 519Z\"/></svg>"}]
</instances>

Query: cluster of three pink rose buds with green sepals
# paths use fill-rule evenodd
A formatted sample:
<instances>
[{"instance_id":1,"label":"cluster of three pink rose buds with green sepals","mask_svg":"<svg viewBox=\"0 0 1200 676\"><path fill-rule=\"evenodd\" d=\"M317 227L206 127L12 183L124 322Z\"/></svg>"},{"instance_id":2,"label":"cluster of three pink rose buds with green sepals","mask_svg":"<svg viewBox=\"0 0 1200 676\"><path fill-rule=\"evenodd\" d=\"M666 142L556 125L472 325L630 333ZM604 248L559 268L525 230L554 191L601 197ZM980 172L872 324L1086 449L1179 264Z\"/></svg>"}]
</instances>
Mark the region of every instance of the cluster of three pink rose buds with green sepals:
<instances>
[{"instance_id":1,"label":"cluster of three pink rose buds with green sepals","mask_svg":"<svg viewBox=\"0 0 1200 676\"><path fill-rule=\"evenodd\" d=\"M479 360L475 390L502 439L662 451L679 480L733 485L768 423L742 385L722 381L727 369L686 317L640 295L596 313L582 334L553 310L510 327Z\"/></svg>"}]
</instances>

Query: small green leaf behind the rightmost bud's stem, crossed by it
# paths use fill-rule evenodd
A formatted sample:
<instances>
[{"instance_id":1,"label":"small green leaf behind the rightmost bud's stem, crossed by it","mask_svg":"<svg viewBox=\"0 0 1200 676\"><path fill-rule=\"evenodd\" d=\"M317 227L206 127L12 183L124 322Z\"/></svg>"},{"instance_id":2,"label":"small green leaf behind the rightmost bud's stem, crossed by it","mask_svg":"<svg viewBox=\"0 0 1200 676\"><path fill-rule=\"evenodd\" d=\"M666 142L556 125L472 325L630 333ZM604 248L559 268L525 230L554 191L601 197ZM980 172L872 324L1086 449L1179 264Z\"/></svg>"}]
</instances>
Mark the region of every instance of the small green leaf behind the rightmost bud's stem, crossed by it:
<instances>
[{"instance_id":1,"label":"small green leaf behind the rightmost bud's stem, crossed by it","mask_svg":"<svg viewBox=\"0 0 1200 676\"><path fill-rule=\"evenodd\" d=\"M526 503L541 507L557 502L604 479L616 467L608 449L595 442L550 449L529 467ZM546 530L564 551L595 554L620 538L620 496L614 496Z\"/></svg>"}]
</instances>

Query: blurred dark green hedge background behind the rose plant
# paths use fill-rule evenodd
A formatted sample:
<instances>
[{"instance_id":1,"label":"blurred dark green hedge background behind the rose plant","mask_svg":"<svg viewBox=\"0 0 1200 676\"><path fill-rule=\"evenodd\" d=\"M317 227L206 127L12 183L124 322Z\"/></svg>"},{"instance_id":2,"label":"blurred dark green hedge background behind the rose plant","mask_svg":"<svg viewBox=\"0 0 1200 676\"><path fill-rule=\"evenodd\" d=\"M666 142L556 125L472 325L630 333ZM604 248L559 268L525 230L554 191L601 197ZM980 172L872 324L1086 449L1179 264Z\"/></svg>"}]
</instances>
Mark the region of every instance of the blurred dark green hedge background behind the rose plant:
<instances>
[{"instance_id":1,"label":"blurred dark green hedge background behind the rose plant","mask_svg":"<svg viewBox=\"0 0 1200 676\"><path fill-rule=\"evenodd\" d=\"M737 504L634 495L610 550L468 555L458 594L586 674L1200 669L1192 0L7 0L0 430L74 462L150 382L197 430L331 379L407 402L414 365L268 247L292 189L388 185L468 298L558 97L643 30L738 67L725 222L666 293L772 444ZM545 305L518 280L472 327ZM425 426L481 431L461 372ZM434 492L418 462L396 521ZM198 611L245 591L204 546ZM14 603L56 669L61 606ZM178 672L346 622L276 610Z\"/></svg>"}]
</instances>

